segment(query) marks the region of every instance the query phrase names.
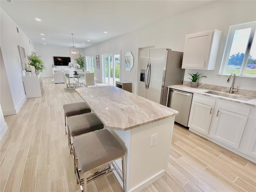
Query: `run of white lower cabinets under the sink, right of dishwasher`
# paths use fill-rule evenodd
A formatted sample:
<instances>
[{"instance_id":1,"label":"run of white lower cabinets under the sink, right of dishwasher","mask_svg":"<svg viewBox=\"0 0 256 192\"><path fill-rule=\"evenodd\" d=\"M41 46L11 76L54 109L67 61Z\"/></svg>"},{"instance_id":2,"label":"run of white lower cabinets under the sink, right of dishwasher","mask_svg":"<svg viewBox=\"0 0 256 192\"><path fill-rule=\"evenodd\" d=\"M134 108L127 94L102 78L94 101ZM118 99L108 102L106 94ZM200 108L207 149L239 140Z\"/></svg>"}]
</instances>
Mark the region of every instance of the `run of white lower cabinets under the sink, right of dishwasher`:
<instances>
[{"instance_id":1,"label":"run of white lower cabinets under the sink, right of dishwasher","mask_svg":"<svg viewBox=\"0 0 256 192\"><path fill-rule=\"evenodd\" d=\"M256 107L193 94L189 130L256 162Z\"/></svg>"}]
</instances>

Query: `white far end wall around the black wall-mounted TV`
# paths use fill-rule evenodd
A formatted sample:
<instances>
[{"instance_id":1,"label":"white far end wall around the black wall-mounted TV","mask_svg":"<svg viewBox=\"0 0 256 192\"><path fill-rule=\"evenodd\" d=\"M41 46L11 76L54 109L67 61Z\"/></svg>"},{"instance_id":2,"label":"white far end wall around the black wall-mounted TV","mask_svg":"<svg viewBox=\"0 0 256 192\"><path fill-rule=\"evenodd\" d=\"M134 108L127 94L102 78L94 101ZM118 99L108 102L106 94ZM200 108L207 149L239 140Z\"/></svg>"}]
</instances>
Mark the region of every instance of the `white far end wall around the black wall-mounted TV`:
<instances>
[{"instance_id":1,"label":"white far end wall around the black wall-mounted TV","mask_svg":"<svg viewBox=\"0 0 256 192\"><path fill-rule=\"evenodd\" d=\"M68 47L47 44L35 44L34 47L35 52L37 52L37 55L41 56L44 65L47 67L47 69L42 72L42 77L52 77L52 65L54 65L54 56L68 57ZM76 61L73 59L71 59L71 62L76 63Z\"/></svg>"}]
</instances>

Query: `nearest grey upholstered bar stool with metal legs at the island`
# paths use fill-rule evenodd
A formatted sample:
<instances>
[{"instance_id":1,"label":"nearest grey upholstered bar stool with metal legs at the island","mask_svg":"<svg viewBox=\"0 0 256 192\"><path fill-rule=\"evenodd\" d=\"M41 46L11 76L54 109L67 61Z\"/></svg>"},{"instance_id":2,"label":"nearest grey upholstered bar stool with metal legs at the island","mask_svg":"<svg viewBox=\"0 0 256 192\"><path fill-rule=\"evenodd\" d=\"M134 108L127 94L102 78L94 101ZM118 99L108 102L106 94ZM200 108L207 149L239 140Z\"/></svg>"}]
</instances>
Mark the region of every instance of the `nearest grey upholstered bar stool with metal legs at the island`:
<instances>
[{"instance_id":1,"label":"nearest grey upholstered bar stool with metal legs at the island","mask_svg":"<svg viewBox=\"0 0 256 192\"><path fill-rule=\"evenodd\" d=\"M78 176L77 181L80 184L81 190L86 191L86 183L103 175L111 170L110 167L106 170L97 172L98 176L86 177L86 172L97 168L103 164L110 163L116 159L122 158L122 176L125 190L125 173L124 173L124 155L125 149L118 140L107 129L90 132L88 134L77 136L73 139L74 146L74 166ZM77 157L77 159L76 159ZM80 179L78 168L84 175L84 179ZM90 179L89 179L90 178ZM92 178L92 179L91 179Z\"/></svg>"}]
</instances>

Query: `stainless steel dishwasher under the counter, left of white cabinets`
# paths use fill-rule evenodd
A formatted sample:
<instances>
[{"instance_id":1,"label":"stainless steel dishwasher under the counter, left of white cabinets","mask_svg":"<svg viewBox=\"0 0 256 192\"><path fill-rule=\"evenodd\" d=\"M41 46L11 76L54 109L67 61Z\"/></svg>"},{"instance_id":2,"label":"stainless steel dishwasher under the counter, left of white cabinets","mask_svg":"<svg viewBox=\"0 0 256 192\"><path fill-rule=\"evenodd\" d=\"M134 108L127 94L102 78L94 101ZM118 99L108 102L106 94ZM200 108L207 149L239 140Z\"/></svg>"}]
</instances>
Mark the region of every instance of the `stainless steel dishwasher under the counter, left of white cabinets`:
<instances>
[{"instance_id":1,"label":"stainless steel dishwasher under the counter, left of white cabinets","mask_svg":"<svg viewBox=\"0 0 256 192\"><path fill-rule=\"evenodd\" d=\"M179 114L175 116L175 122L186 127L188 126L192 97L193 93L172 88L168 89L166 106L179 112Z\"/></svg>"}]
</instances>

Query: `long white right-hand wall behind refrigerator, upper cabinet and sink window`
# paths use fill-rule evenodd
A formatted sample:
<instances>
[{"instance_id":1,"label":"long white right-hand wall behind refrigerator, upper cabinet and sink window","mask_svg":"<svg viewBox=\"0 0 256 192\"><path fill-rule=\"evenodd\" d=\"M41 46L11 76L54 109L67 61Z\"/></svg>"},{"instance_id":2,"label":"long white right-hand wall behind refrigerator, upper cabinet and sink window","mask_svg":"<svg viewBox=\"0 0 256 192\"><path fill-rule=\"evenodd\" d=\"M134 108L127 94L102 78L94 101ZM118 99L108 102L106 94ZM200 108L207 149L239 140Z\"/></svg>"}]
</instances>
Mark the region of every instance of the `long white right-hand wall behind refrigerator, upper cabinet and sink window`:
<instances>
[{"instance_id":1,"label":"long white right-hand wall behind refrigerator, upper cabinet and sink window","mask_svg":"<svg viewBox=\"0 0 256 192\"><path fill-rule=\"evenodd\" d=\"M218 29L221 30L223 34L216 69L211 71L185 70L184 80L189 80L187 78L188 72L199 71L207 76L207 78L204 78L203 83L230 87L230 84L226 83L227 77L218 75L228 28L234 24L252 22L255 20L255 1L214 1L206 6L179 14L172 18L167 18L134 32L86 48L84 55L99 54L101 56L101 54L116 53L122 50L121 58L123 58L126 52L132 52L134 56L134 67L131 72L127 72L123 65L121 65L121 79L132 82L132 92L136 93L138 48L155 46L155 48L166 47L183 52L186 34ZM100 70L96 70L96 79L102 81L101 70L102 60L100 57ZM238 77L236 79L236 85L238 85L240 89L256 91L255 78Z\"/></svg>"}]
</instances>

